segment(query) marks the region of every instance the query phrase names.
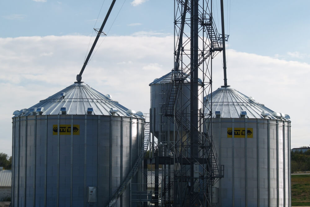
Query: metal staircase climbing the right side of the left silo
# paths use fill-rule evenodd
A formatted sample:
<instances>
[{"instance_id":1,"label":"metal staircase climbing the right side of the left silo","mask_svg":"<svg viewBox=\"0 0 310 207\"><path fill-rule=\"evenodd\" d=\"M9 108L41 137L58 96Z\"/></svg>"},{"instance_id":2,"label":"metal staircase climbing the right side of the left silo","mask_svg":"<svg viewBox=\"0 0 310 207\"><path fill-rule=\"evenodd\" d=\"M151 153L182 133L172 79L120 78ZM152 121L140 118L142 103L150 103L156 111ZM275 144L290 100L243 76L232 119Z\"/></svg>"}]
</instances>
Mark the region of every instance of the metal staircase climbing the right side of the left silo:
<instances>
[{"instance_id":1,"label":"metal staircase climbing the right side of the left silo","mask_svg":"<svg viewBox=\"0 0 310 207\"><path fill-rule=\"evenodd\" d=\"M112 198L111 198L110 202L108 203L107 207L113 206L115 204L117 199L120 198L120 196L126 190L126 187L130 184L131 180L133 179L135 174L138 172L139 165L143 162L144 155L145 155L146 151L148 150L148 143L150 142L150 137L151 137L150 136L150 123L149 122L145 122L145 125L144 125L144 147L141 149L139 157L138 157L135 165L133 166L131 171L126 176L126 179L124 180L124 182L122 182L120 187L118 187L116 193L112 196Z\"/></svg>"}]
</instances>

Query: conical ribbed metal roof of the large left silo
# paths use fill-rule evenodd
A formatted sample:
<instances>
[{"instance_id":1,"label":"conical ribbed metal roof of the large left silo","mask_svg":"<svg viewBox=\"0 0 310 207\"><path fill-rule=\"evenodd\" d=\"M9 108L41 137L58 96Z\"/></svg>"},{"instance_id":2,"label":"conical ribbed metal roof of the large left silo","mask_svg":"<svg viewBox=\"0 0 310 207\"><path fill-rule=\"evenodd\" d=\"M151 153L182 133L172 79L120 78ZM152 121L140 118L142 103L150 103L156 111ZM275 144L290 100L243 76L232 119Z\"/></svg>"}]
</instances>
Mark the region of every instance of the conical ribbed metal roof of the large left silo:
<instances>
[{"instance_id":1,"label":"conical ribbed metal roof of the large left silo","mask_svg":"<svg viewBox=\"0 0 310 207\"><path fill-rule=\"evenodd\" d=\"M66 107L68 115L86 115L88 108L92 107L92 115L112 115L113 113L118 116L141 118L135 114L135 111L128 110L125 106L112 100L108 94L103 95L84 82L75 82L30 108L21 110L20 113L16 112L15 115L27 116L34 109L41 107L44 108L42 115L58 115L62 107ZM111 112L111 108L114 111Z\"/></svg>"}]
</instances>

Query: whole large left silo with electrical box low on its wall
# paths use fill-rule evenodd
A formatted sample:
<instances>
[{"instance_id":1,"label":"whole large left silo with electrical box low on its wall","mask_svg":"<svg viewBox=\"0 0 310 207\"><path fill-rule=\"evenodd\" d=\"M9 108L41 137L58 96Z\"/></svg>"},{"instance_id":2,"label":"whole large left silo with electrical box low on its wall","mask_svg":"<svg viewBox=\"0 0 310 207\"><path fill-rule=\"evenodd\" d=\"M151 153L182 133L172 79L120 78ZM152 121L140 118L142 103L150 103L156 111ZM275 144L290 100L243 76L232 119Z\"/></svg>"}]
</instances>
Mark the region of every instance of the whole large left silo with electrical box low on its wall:
<instances>
[{"instance_id":1,"label":"whole large left silo with electrical box low on its wall","mask_svg":"<svg viewBox=\"0 0 310 207\"><path fill-rule=\"evenodd\" d=\"M15 111L12 206L106 206L141 153L142 116L83 82Z\"/></svg>"}]
</instances>

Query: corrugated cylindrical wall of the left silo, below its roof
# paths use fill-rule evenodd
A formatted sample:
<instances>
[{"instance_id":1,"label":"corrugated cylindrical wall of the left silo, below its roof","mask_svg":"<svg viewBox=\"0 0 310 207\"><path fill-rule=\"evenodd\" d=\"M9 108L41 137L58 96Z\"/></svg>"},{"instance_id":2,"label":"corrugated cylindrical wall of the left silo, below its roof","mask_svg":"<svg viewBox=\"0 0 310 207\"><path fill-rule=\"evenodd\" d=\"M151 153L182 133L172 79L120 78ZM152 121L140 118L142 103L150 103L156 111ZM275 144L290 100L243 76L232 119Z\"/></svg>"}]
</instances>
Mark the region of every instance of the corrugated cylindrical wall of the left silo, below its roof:
<instances>
[{"instance_id":1,"label":"corrugated cylindrical wall of the left silo, below its roof","mask_svg":"<svg viewBox=\"0 0 310 207\"><path fill-rule=\"evenodd\" d=\"M79 134L54 135L53 125L79 125ZM143 128L143 119L119 116L13 118L12 206L107 205L137 160ZM97 187L96 203L87 186ZM116 203L129 205L130 187Z\"/></svg>"}]
</instances>

